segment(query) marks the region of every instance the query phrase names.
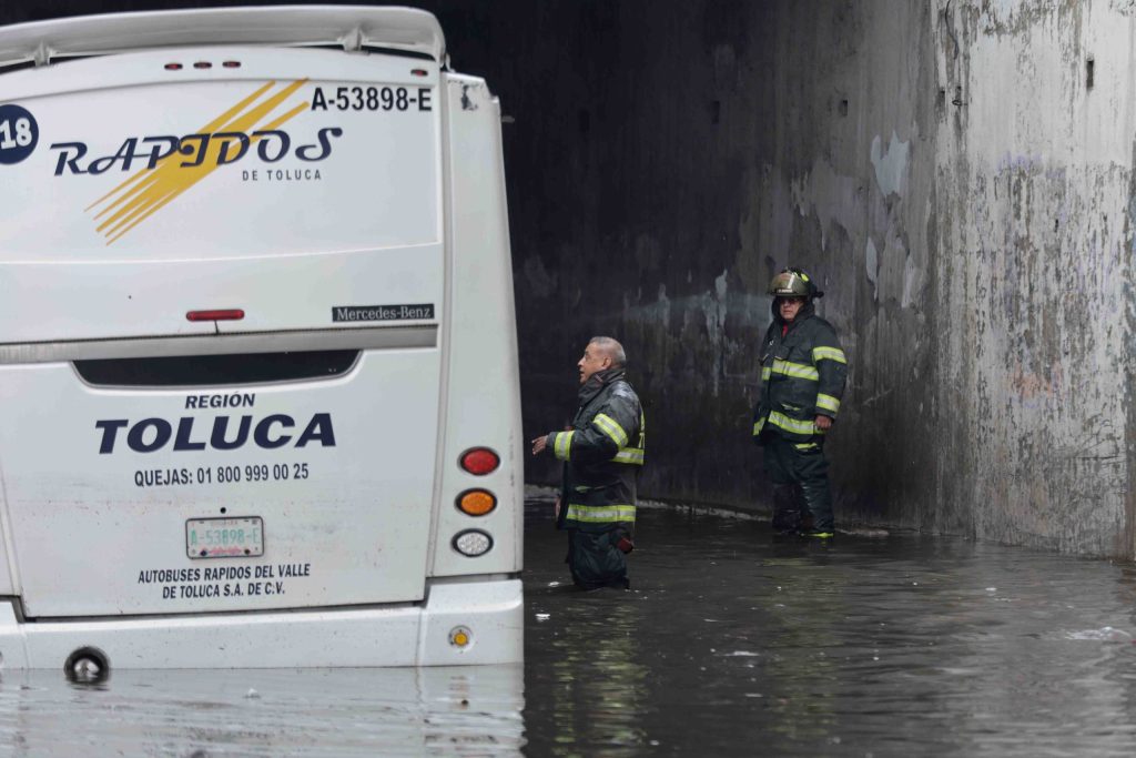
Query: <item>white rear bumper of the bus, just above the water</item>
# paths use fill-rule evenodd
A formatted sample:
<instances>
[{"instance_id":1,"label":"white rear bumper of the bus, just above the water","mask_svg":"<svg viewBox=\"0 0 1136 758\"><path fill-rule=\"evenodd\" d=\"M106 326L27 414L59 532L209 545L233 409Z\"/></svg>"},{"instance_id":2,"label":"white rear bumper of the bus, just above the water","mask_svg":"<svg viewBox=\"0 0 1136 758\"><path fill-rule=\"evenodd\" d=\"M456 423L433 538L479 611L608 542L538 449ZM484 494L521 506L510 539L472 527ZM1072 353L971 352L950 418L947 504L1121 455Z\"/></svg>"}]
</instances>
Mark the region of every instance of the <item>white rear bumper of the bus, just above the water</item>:
<instances>
[{"instance_id":1,"label":"white rear bumper of the bus, just above the water","mask_svg":"<svg viewBox=\"0 0 1136 758\"><path fill-rule=\"evenodd\" d=\"M115 668L465 666L523 660L520 580L427 584L398 608L22 623L0 601L3 668L64 668L94 648ZM463 643L463 644L462 644Z\"/></svg>"}]
</instances>

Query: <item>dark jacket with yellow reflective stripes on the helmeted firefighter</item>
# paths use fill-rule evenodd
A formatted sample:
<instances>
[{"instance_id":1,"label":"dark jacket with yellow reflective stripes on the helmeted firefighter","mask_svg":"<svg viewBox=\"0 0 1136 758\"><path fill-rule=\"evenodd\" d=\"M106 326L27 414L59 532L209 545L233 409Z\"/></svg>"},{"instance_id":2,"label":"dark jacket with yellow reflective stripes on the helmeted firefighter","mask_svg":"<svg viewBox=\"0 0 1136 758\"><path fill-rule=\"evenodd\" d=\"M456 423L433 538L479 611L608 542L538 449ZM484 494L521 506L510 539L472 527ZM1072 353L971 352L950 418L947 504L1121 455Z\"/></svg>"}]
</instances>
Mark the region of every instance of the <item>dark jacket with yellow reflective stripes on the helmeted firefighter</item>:
<instances>
[{"instance_id":1,"label":"dark jacket with yellow reflective stripes on the helmeted firefighter","mask_svg":"<svg viewBox=\"0 0 1136 758\"><path fill-rule=\"evenodd\" d=\"M774 322L761 347L761 399L753 411L753 436L774 432L797 443L824 434L816 417L835 419L847 378L847 358L832 324L807 303L788 330L774 300Z\"/></svg>"}]
</instances>

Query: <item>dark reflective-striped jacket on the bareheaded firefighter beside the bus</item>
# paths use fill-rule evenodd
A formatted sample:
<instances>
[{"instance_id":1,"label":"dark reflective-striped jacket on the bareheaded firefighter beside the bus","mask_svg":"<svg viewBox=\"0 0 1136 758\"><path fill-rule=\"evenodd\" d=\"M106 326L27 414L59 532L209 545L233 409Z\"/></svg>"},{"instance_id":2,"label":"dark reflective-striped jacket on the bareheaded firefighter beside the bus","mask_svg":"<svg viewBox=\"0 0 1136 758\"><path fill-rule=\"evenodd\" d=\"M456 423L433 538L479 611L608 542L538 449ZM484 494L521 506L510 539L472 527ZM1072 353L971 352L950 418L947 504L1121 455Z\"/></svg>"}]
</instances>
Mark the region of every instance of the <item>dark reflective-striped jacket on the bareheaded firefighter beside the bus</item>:
<instances>
[{"instance_id":1,"label":"dark reflective-striped jacket on the bareheaded firefighter beside the bus","mask_svg":"<svg viewBox=\"0 0 1136 758\"><path fill-rule=\"evenodd\" d=\"M565 461L561 528L601 532L635 523L635 480L645 459L645 419L623 369L592 375L580 388L571 428L548 438Z\"/></svg>"}]
</instances>

